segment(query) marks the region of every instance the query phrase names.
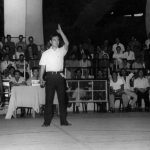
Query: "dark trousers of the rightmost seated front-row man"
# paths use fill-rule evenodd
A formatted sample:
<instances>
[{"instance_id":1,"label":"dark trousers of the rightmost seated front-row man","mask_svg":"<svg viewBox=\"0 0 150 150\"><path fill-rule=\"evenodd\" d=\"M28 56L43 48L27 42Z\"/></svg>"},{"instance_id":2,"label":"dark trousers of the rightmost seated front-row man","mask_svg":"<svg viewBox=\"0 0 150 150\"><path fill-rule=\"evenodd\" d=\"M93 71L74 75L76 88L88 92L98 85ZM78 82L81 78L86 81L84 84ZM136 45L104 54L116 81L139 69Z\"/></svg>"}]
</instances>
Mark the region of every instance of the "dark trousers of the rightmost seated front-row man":
<instances>
[{"instance_id":1,"label":"dark trousers of the rightmost seated front-row man","mask_svg":"<svg viewBox=\"0 0 150 150\"><path fill-rule=\"evenodd\" d=\"M137 103L138 103L138 107L141 108L141 102L142 102L142 98L144 99L145 102L145 108L149 108L149 93L148 91L142 93L140 91L137 91Z\"/></svg>"}]
</instances>

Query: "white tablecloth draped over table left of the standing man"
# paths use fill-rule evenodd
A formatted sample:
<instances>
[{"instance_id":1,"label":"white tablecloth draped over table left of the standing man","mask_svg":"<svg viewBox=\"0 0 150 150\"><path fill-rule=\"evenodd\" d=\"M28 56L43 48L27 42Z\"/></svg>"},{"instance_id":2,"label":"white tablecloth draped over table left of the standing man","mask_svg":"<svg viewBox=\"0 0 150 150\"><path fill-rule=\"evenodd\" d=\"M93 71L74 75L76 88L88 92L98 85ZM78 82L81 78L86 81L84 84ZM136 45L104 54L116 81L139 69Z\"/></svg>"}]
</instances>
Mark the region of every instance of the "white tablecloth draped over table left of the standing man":
<instances>
[{"instance_id":1,"label":"white tablecloth draped over table left of the standing man","mask_svg":"<svg viewBox=\"0 0 150 150\"><path fill-rule=\"evenodd\" d=\"M45 88L40 86L14 86L5 119L11 119L17 107L31 107L39 112L40 105L45 104Z\"/></svg>"}]
</instances>

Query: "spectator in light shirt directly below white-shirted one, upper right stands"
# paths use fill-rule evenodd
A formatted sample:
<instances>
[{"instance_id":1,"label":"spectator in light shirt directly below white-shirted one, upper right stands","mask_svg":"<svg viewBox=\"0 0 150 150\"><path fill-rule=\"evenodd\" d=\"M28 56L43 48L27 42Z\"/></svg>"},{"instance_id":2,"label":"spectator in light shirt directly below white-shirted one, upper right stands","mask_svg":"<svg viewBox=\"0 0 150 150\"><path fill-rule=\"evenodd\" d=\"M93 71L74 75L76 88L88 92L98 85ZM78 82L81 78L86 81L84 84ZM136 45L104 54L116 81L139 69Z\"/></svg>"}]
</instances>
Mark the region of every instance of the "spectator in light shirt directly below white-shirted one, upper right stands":
<instances>
[{"instance_id":1,"label":"spectator in light shirt directly below white-shirted one, upper right stands","mask_svg":"<svg viewBox=\"0 0 150 150\"><path fill-rule=\"evenodd\" d=\"M123 59L123 53L121 52L121 47L117 46L116 47L116 53L113 54L114 62L116 69L117 68L122 68L122 59Z\"/></svg>"}]
</instances>

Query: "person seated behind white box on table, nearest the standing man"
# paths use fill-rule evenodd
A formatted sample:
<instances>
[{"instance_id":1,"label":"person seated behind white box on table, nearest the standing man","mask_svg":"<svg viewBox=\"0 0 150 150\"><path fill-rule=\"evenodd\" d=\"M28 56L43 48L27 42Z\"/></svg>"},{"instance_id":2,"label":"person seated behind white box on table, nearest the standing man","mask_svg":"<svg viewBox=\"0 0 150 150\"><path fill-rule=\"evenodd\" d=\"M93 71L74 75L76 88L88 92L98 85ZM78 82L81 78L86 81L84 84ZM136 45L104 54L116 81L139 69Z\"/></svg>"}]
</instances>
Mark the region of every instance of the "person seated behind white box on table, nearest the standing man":
<instances>
[{"instance_id":1,"label":"person seated behind white box on table, nearest the standing man","mask_svg":"<svg viewBox=\"0 0 150 150\"><path fill-rule=\"evenodd\" d=\"M33 83L34 80L36 80L36 81L40 80L40 79L39 79L39 68L38 68L38 67L33 67L33 68L32 68L32 75L33 75L33 76L30 77L30 78L26 81L27 85L29 85L29 86L32 85L32 83Z\"/></svg>"}]
</instances>

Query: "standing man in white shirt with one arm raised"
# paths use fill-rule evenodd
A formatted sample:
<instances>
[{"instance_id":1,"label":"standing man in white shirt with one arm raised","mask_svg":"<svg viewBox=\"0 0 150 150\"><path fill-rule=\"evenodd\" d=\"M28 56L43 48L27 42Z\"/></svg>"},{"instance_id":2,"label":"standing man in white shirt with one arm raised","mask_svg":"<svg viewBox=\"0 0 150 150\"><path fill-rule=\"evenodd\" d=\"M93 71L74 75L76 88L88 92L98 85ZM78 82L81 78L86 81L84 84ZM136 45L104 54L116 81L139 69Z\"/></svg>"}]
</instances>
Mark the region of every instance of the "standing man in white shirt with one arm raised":
<instances>
[{"instance_id":1,"label":"standing man in white shirt with one arm raised","mask_svg":"<svg viewBox=\"0 0 150 150\"><path fill-rule=\"evenodd\" d=\"M60 112L60 125L71 125L67 121L67 107L65 100L65 78L63 76L64 56L68 51L69 41L58 24L58 34L52 35L50 39L51 47L43 52L40 59L40 84L44 85L43 75L46 71L46 101L44 110L44 123L42 127L48 127L53 117L53 100L55 91L57 92ZM64 45L59 47L62 37Z\"/></svg>"}]
</instances>

